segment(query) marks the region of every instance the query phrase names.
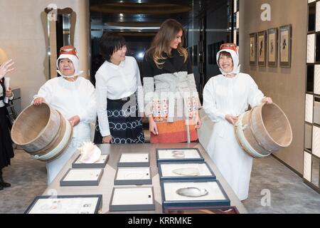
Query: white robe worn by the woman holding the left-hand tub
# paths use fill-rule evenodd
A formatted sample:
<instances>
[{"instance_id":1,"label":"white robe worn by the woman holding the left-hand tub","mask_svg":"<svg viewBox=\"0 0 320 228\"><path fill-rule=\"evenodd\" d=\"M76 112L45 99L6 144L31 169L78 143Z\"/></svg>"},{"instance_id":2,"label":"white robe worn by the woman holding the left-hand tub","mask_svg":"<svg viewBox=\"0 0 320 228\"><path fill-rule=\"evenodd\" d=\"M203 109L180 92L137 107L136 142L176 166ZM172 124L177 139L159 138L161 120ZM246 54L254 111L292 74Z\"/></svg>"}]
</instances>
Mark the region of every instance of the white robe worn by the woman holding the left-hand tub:
<instances>
[{"instance_id":1,"label":"white robe worn by the woman holding the left-hand tub","mask_svg":"<svg viewBox=\"0 0 320 228\"><path fill-rule=\"evenodd\" d=\"M46 103L58 110L67 120L79 115L80 123L73 128L73 138L65 151L47 163L48 184L58 175L66 162L82 142L90 142L90 123L97 118L95 88L85 78L79 77L74 82L63 77L47 81L35 95L43 97Z\"/></svg>"}]
</instances>

